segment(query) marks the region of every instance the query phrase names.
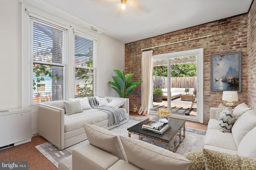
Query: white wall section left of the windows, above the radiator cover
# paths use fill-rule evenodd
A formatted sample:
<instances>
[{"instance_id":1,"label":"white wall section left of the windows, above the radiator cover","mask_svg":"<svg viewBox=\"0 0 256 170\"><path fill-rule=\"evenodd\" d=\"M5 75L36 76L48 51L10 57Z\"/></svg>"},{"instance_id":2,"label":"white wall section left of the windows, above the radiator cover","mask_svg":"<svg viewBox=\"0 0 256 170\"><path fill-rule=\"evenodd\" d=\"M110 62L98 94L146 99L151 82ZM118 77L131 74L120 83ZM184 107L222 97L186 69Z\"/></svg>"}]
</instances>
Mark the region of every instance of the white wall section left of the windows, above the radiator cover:
<instances>
[{"instance_id":1,"label":"white wall section left of the windows, above the radiator cover","mask_svg":"<svg viewBox=\"0 0 256 170\"><path fill-rule=\"evenodd\" d=\"M19 17L18 2L0 1L0 110L21 107Z\"/></svg>"}]
</instances>

